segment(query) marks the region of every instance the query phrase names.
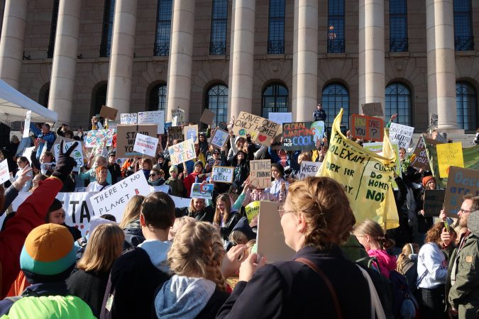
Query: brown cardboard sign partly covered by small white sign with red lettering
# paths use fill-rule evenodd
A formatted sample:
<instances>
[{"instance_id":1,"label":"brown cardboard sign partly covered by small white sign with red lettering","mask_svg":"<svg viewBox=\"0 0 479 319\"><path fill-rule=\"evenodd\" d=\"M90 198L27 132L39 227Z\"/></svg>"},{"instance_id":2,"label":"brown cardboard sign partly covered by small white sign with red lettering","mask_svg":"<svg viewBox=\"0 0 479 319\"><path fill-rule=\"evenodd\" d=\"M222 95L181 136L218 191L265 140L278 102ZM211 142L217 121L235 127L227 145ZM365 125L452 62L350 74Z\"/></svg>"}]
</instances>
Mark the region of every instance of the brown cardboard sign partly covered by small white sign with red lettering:
<instances>
[{"instance_id":1,"label":"brown cardboard sign partly covered by small white sign with red lettering","mask_svg":"<svg viewBox=\"0 0 479 319\"><path fill-rule=\"evenodd\" d=\"M135 152L133 147L135 146L136 134L157 136L156 124L143 124L143 125L118 125L116 128L116 157L136 157L141 156L140 152Z\"/></svg>"}]
</instances>

